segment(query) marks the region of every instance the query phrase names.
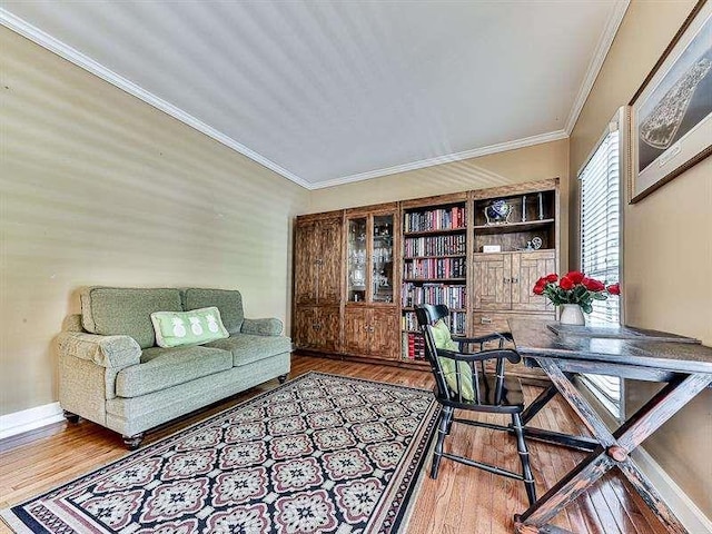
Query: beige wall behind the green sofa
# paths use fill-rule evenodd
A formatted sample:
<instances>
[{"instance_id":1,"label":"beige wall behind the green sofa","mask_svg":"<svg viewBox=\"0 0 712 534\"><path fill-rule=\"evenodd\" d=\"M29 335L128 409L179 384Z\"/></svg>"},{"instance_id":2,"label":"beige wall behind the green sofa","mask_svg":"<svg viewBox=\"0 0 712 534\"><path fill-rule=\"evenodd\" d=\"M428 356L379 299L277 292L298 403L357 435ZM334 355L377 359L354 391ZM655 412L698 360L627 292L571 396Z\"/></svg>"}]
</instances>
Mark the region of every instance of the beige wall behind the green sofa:
<instances>
[{"instance_id":1,"label":"beige wall behind the green sofa","mask_svg":"<svg viewBox=\"0 0 712 534\"><path fill-rule=\"evenodd\" d=\"M0 415L57 399L77 288L239 288L288 318L308 191L0 27Z\"/></svg>"}]
</instances>

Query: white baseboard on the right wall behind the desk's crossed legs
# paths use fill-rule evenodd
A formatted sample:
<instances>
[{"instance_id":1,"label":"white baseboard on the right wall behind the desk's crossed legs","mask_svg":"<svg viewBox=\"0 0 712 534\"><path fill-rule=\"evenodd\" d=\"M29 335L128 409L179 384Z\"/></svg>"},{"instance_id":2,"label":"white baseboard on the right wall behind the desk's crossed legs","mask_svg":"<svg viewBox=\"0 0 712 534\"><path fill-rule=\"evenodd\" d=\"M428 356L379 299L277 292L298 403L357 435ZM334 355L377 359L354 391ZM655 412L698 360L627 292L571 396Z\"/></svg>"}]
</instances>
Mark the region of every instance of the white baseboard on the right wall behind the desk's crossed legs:
<instances>
[{"instance_id":1,"label":"white baseboard on the right wall behind the desk's crossed legs","mask_svg":"<svg viewBox=\"0 0 712 534\"><path fill-rule=\"evenodd\" d=\"M675 481L663 471L644 448L636 448L631 456L635 465L650 478L651 484L657 490L688 532L712 534L710 518L685 495Z\"/></svg>"}]
</instances>

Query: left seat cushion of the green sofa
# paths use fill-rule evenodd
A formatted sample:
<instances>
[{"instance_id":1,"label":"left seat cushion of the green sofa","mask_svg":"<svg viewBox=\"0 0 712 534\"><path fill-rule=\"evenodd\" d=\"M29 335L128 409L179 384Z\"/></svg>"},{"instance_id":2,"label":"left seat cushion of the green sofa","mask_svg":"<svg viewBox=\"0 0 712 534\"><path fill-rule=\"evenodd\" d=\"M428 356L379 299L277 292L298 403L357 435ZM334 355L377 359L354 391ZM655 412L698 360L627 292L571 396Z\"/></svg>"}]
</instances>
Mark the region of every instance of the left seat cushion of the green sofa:
<instances>
[{"instance_id":1,"label":"left seat cushion of the green sofa","mask_svg":"<svg viewBox=\"0 0 712 534\"><path fill-rule=\"evenodd\" d=\"M140 364L119 372L116 377L116 394L119 397L139 397L231 367L233 355L218 348L147 348L141 354Z\"/></svg>"}]
</instances>

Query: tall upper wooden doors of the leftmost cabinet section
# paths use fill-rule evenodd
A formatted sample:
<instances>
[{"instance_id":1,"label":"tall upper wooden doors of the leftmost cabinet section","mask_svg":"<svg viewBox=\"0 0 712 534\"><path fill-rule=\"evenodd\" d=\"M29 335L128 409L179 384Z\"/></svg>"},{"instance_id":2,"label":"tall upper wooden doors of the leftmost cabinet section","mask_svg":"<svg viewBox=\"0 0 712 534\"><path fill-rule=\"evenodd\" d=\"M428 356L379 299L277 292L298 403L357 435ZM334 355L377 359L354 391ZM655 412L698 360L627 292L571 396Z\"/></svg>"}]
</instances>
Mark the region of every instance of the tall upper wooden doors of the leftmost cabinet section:
<instances>
[{"instance_id":1,"label":"tall upper wooden doors of the leftmost cabinet section","mask_svg":"<svg viewBox=\"0 0 712 534\"><path fill-rule=\"evenodd\" d=\"M295 303L339 304L342 298L343 216L297 219L295 225Z\"/></svg>"}]
</instances>

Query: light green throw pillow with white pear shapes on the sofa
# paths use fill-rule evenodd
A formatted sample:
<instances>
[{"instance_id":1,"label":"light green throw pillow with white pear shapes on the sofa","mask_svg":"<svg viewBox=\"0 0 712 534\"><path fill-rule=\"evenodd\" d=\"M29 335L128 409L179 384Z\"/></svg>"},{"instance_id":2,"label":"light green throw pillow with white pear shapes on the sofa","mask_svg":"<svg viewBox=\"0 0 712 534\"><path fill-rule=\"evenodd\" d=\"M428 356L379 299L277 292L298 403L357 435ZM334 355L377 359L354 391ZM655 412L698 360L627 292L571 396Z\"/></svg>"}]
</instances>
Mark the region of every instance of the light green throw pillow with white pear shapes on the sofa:
<instances>
[{"instance_id":1,"label":"light green throw pillow with white pear shapes on the sofa","mask_svg":"<svg viewBox=\"0 0 712 534\"><path fill-rule=\"evenodd\" d=\"M190 312L154 312L151 323L159 347L201 345L229 337L222 326L220 310L215 306Z\"/></svg>"}]
</instances>

